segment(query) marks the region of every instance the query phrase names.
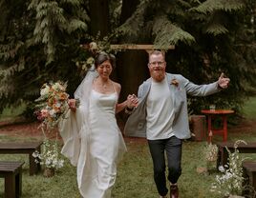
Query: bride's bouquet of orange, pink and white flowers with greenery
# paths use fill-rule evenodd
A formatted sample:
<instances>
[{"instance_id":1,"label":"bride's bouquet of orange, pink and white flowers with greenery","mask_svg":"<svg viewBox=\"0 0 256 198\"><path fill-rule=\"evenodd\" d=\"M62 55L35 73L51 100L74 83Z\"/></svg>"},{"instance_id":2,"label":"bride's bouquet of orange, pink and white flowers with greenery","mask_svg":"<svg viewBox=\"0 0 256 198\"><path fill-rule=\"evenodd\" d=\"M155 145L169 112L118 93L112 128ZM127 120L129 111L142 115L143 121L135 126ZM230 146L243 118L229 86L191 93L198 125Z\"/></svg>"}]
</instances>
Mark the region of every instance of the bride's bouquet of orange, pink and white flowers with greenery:
<instances>
[{"instance_id":1,"label":"bride's bouquet of orange, pink and white flowers with greenery","mask_svg":"<svg viewBox=\"0 0 256 198\"><path fill-rule=\"evenodd\" d=\"M35 100L35 115L42 122L42 129L53 129L69 108L69 94L66 88L67 83L51 82L44 84L40 89L40 97Z\"/></svg>"}]
</instances>

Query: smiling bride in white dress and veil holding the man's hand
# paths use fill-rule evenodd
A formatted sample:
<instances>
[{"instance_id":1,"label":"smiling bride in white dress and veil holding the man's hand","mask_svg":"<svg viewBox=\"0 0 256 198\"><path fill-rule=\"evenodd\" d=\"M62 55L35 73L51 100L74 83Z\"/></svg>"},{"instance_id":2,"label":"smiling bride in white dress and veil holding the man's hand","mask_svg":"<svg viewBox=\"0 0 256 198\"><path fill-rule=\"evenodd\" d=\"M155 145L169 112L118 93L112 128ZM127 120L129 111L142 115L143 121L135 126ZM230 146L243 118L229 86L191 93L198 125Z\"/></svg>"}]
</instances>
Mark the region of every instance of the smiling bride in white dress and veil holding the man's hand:
<instances>
[{"instance_id":1,"label":"smiling bride in white dress and veil holding the man's hand","mask_svg":"<svg viewBox=\"0 0 256 198\"><path fill-rule=\"evenodd\" d=\"M77 184L84 198L110 198L117 176L117 161L126 151L117 127L116 113L133 108L138 99L129 95L118 104L120 85L110 79L113 55L96 55L95 70L89 70L69 100L67 119L59 123L64 141L62 154L77 167Z\"/></svg>"}]
</instances>

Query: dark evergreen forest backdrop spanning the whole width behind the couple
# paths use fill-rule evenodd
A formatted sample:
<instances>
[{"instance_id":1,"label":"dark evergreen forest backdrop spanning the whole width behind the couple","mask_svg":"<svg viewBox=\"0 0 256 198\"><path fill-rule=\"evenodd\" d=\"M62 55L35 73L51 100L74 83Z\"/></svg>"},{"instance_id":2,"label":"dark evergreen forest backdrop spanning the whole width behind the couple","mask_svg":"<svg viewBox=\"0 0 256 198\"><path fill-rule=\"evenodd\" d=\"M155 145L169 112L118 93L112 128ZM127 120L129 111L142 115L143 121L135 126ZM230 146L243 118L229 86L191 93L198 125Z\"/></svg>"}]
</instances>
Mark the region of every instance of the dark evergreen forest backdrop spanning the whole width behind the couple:
<instances>
[{"instance_id":1,"label":"dark evergreen forest backdrop spanning the whole width behind the couple","mask_svg":"<svg viewBox=\"0 0 256 198\"><path fill-rule=\"evenodd\" d=\"M189 98L189 112L215 104L239 114L256 93L254 0L0 0L0 111L27 105L50 81L67 81L73 96L96 42L117 56L113 78L120 100L149 77L145 50L111 44L151 44L166 50L167 71L196 84L231 79L229 89ZM174 45L175 49L168 49Z\"/></svg>"}]
</instances>

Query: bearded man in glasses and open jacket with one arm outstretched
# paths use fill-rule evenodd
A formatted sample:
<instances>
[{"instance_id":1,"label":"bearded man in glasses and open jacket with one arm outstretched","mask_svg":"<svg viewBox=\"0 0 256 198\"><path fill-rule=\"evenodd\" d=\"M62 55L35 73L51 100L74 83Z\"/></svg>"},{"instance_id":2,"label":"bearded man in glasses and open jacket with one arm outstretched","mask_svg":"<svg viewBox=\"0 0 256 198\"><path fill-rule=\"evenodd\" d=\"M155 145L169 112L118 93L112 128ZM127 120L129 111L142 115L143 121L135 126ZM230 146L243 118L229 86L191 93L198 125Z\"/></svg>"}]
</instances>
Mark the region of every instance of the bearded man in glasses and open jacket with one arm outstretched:
<instances>
[{"instance_id":1,"label":"bearded man in glasses and open jacket with one arm outstretched","mask_svg":"<svg viewBox=\"0 0 256 198\"><path fill-rule=\"evenodd\" d=\"M190 137L187 98L206 96L227 88L229 78L222 73L217 82L195 85L179 74L165 72L164 54L154 50L149 55L151 78L139 86L139 105L127 107L128 118L124 134L146 136L154 167L154 180L161 198L167 197L165 157L167 156L170 198L179 197L178 179L181 176L182 140ZM133 97L132 95L130 97ZM137 101L137 98L134 98Z\"/></svg>"}]
</instances>

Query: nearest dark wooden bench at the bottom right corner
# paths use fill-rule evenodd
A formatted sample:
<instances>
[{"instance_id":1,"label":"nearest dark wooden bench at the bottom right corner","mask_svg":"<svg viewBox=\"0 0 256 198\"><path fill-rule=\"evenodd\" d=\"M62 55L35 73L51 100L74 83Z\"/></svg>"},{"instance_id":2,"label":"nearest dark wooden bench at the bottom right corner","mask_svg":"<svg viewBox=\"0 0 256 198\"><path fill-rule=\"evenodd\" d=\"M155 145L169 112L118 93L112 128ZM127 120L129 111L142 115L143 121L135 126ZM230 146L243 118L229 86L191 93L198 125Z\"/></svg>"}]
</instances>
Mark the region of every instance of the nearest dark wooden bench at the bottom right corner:
<instances>
[{"instance_id":1,"label":"nearest dark wooden bench at the bottom right corner","mask_svg":"<svg viewBox=\"0 0 256 198\"><path fill-rule=\"evenodd\" d=\"M243 176L245 178L243 186L245 190L243 192L244 195L248 195L250 193L250 187L256 191L256 162L245 161L243 162ZM254 196L253 196L254 197Z\"/></svg>"}]
</instances>

